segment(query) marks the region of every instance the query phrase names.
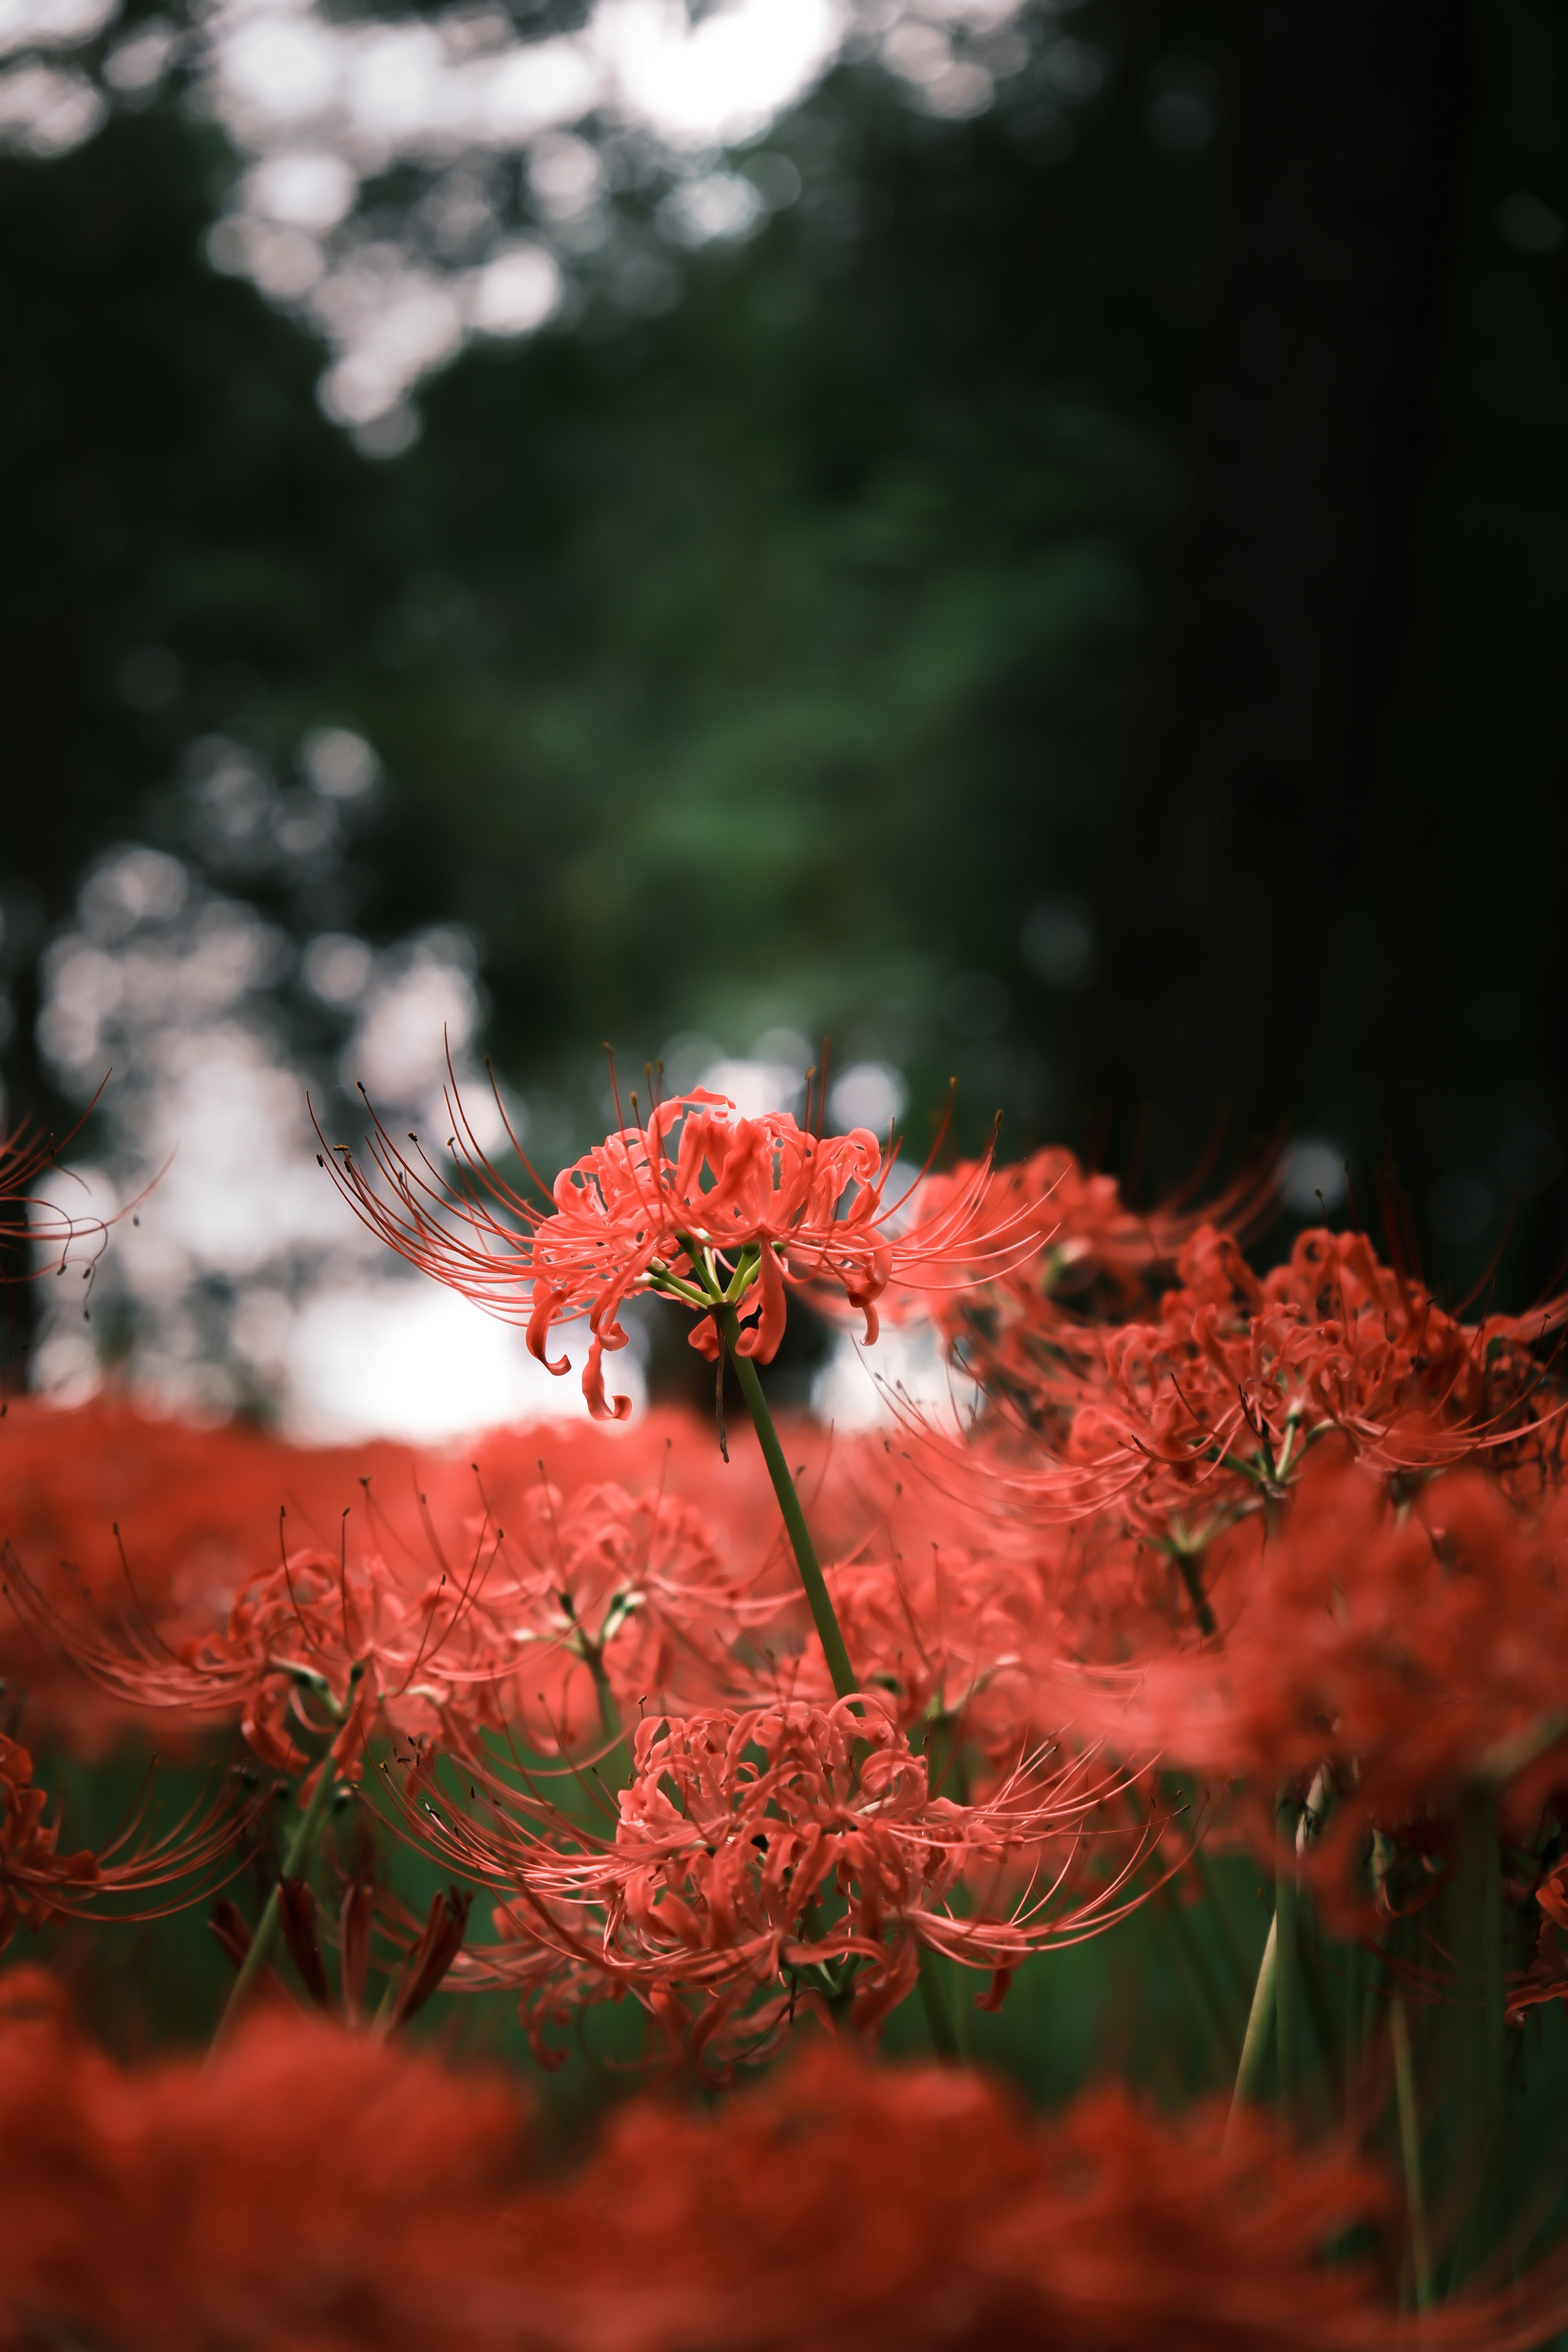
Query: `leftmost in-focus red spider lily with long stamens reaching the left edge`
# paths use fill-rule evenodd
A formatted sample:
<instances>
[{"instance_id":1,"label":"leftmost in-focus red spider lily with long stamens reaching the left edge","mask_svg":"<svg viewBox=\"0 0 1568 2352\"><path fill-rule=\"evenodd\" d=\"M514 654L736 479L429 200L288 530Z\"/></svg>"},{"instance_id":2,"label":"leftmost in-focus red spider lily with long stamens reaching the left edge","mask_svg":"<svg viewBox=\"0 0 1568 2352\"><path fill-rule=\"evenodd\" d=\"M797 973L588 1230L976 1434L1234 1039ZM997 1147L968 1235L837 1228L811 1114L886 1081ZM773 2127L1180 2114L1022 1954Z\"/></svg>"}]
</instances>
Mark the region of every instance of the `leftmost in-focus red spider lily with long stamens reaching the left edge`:
<instances>
[{"instance_id":1,"label":"leftmost in-focus red spider lily with long stamens reaching the left edge","mask_svg":"<svg viewBox=\"0 0 1568 2352\"><path fill-rule=\"evenodd\" d=\"M240 1585L221 1632L179 1642L139 1618L118 1635L82 1625L14 1555L5 1590L40 1637L139 1712L237 1715L249 1748L287 1773L308 1764L296 1724L353 1771L374 1724L414 1736L449 1726L508 1670L480 1606L491 1557L494 1545L480 1545L465 1576L442 1571L409 1592L376 1557L292 1552Z\"/></svg>"}]
</instances>

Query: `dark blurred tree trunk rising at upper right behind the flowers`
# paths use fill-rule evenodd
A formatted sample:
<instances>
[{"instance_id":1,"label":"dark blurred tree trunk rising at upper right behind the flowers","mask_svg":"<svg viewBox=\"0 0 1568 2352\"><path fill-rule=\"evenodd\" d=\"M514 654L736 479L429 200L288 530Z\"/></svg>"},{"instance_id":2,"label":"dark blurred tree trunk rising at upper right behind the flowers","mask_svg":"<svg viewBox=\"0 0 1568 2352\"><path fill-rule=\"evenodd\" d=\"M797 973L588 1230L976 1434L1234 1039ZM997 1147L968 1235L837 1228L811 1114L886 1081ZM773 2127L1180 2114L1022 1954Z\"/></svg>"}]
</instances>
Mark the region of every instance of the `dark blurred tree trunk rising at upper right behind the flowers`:
<instances>
[{"instance_id":1,"label":"dark blurred tree trunk rising at upper right behind the flowers","mask_svg":"<svg viewBox=\"0 0 1568 2352\"><path fill-rule=\"evenodd\" d=\"M1105 908L1103 1056L1171 1176L1302 1110L1378 790L1441 376L1469 0L1244 0L1173 720ZM1152 1101L1150 1101L1152 1096Z\"/></svg>"}]
</instances>

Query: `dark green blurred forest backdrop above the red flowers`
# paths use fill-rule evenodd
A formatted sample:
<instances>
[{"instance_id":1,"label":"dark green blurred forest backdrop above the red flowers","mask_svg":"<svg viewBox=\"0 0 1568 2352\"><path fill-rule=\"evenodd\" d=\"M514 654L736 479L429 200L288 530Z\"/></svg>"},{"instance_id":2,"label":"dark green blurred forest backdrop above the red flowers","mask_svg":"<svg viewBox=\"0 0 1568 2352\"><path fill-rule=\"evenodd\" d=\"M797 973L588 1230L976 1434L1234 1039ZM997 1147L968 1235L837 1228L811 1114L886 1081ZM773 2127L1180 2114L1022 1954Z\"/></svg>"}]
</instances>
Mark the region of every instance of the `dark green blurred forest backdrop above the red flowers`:
<instances>
[{"instance_id":1,"label":"dark green blurred forest backdrop above the red flowers","mask_svg":"<svg viewBox=\"0 0 1568 2352\"><path fill-rule=\"evenodd\" d=\"M179 75L0 160L12 1117L68 1115L38 957L146 840L299 941L468 924L578 1148L599 1040L788 1021L912 1134L957 1073L969 1141L1001 1103L1143 1197L1316 1136L1371 1214L1392 1152L1441 1284L1554 1277L1563 12L1084 0L1072 106L1025 28L971 122L842 66L759 235L470 350L378 463L207 263L237 165ZM374 814L223 866L190 746L287 776L322 720Z\"/></svg>"}]
</instances>

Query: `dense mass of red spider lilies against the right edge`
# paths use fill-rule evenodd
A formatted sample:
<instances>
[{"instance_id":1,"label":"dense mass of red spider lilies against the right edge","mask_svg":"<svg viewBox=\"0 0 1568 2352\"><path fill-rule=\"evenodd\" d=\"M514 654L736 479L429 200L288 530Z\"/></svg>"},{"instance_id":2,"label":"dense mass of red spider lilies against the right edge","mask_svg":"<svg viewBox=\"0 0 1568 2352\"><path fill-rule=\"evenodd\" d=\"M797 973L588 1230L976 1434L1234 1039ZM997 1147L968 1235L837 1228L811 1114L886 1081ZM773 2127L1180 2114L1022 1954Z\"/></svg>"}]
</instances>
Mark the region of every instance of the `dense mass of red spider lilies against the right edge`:
<instances>
[{"instance_id":1,"label":"dense mass of red spider lilies against the right edge","mask_svg":"<svg viewBox=\"0 0 1568 2352\"><path fill-rule=\"evenodd\" d=\"M1032 1719L1211 1802L1234 1788L1265 1856L1281 1785L1324 1773L1340 1922L1371 1907L1373 1830L1441 1853L1483 1790L1533 1835L1568 1783L1568 1402L1544 1345L1568 1308L1467 1324L1361 1232L1302 1232L1255 1275L1237 1230L1154 1218L1140 1256L1060 1155L992 1190L1051 1176L1086 1284L1063 1296L1053 1240L947 1310L992 1388L933 1472L976 1517L1011 1496L1016 1548L992 1524L966 1592L1030 1592L1032 1566Z\"/></svg>"}]
</instances>

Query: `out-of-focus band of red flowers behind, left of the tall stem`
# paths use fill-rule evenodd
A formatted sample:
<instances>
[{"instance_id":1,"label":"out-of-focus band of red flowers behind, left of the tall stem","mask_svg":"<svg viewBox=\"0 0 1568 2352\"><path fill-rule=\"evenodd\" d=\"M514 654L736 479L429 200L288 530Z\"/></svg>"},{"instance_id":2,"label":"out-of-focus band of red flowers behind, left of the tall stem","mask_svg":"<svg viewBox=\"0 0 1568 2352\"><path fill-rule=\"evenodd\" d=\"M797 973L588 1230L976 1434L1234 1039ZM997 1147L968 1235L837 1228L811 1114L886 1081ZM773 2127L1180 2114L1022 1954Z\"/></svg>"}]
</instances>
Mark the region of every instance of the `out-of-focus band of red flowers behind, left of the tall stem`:
<instances>
[{"instance_id":1,"label":"out-of-focus band of red flowers behind, left of the tall stem","mask_svg":"<svg viewBox=\"0 0 1568 2352\"><path fill-rule=\"evenodd\" d=\"M835 1444L816 1428L795 1428L788 1442L806 1465L832 1541L860 1541L891 1484L882 1449ZM517 1573L545 1578L552 1536L536 1529L541 1477L564 1496L562 1522L583 1486L614 1479L656 1486L670 1510L701 1512L719 1555L745 1564L726 1566L724 1576L750 1590L766 1581L778 1548L766 1475L741 1449L726 1477L717 1477L710 1454L691 1444L691 1416L670 1406L630 1430L550 1425L527 1442L496 1432L461 1454L416 1454L393 1442L299 1446L240 1423L197 1428L148 1416L113 1395L82 1406L14 1397L0 1423L0 1541L9 1541L54 1618L71 1625L89 1613L110 1625L129 1611L143 1637L155 1630L179 1649L214 1618L228 1618L240 1585L277 1566L280 1505L292 1550L336 1555L343 1505L353 1501L350 1531L369 1522L369 1543L404 1595L440 1576L442 1555L454 1562L447 1590L461 1588L475 1545L484 1538L489 1548L505 1526L517 1541L508 1538L487 1571L489 1592L505 1581L517 1548L527 1555ZM762 1541L759 1519L769 1526ZM585 1538L574 1531L562 1541L571 1550ZM621 1639L635 1639L635 1630L628 1625ZM59 1642L38 1639L9 1606L0 1606L0 1675L26 1689L38 1736L66 1740L78 1755L99 1755L129 1724L146 1722L134 1686L89 1679ZM637 1684L635 1696L644 1689ZM167 1693L150 1705L167 1748L176 1733Z\"/></svg>"}]
</instances>

